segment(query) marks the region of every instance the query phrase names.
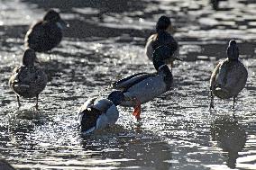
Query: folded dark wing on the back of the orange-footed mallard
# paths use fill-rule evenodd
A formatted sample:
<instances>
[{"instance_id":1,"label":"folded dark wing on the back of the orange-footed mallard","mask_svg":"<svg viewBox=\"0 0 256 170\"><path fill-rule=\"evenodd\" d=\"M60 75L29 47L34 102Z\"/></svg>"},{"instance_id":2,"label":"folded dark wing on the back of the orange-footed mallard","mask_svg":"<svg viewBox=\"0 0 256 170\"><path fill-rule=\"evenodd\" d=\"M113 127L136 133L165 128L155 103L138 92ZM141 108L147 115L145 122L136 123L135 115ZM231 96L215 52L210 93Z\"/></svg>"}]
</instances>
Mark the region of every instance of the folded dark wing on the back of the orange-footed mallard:
<instances>
[{"instance_id":1,"label":"folded dark wing on the back of the orange-footed mallard","mask_svg":"<svg viewBox=\"0 0 256 170\"><path fill-rule=\"evenodd\" d=\"M128 88L142 82L144 79L149 78L151 76L156 76L156 74L149 73L137 73L132 76L127 76L117 82L114 82L112 87L118 90L127 90Z\"/></svg>"}]
</instances>

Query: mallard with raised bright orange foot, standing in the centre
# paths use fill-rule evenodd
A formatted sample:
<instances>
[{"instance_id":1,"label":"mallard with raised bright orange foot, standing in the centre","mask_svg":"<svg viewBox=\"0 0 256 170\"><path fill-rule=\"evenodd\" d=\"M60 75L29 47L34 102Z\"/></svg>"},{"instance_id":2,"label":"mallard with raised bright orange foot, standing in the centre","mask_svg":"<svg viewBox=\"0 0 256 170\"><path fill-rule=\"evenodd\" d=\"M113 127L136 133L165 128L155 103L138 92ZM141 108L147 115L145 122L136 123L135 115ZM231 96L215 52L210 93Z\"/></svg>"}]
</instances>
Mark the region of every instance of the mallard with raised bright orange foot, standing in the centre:
<instances>
[{"instance_id":1,"label":"mallard with raised bright orange foot, standing in the centre","mask_svg":"<svg viewBox=\"0 0 256 170\"><path fill-rule=\"evenodd\" d=\"M170 58L174 51L175 49L169 46L160 46L153 52L153 65L157 73L138 73L125 77L112 85L115 90L122 92L116 94L124 95L120 105L133 107L133 115L137 120L141 119L142 103L147 103L170 89L173 77L164 60Z\"/></svg>"}]
</instances>

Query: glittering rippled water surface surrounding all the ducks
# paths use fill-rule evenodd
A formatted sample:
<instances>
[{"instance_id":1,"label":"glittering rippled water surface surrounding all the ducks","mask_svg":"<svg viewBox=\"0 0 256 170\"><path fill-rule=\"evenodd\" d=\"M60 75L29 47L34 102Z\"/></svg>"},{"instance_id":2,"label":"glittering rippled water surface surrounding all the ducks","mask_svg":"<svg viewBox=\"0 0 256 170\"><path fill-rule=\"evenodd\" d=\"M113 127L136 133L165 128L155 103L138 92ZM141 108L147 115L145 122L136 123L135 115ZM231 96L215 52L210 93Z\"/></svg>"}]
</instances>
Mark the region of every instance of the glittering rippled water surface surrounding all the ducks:
<instances>
[{"instance_id":1,"label":"glittering rippled water surface surrounding all the ducks","mask_svg":"<svg viewBox=\"0 0 256 170\"><path fill-rule=\"evenodd\" d=\"M48 8L70 27L58 48L37 54L50 76L40 111L24 99L18 111L8 78L28 25ZM230 0L220 8L206 0L1 1L0 157L17 169L256 169L256 4ZM163 13L184 58L173 68L173 89L142 105L140 124L119 107L116 126L81 137L77 112L88 97L107 95L114 79L154 72L143 46ZM230 39L249 71L236 120L231 100L216 99L216 111L208 110L209 77Z\"/></svg>"}]
</instances>

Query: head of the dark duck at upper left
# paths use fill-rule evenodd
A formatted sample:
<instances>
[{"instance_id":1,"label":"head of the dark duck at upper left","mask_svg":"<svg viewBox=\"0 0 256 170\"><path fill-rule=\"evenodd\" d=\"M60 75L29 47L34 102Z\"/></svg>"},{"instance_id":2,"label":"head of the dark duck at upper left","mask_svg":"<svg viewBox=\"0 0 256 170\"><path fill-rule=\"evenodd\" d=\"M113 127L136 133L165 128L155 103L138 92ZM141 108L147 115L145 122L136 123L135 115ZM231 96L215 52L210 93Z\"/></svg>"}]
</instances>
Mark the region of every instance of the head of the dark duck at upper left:
<instances>
[{"instance_id":1,"label":"head of the dark duck at upper left","mask_svg":"<svg viewBox=\"0 0 256 170\"><path fill-rule=\"evenodd\" d=\"M53 9L50 9L47 13L45 13L43 17L43 21L45 22L52 22L56 23L57 26L62 30L66 27L69 27L69 23L64 22L60 16L59 13L54 11Z\"/></svg>"}]
</instances>

